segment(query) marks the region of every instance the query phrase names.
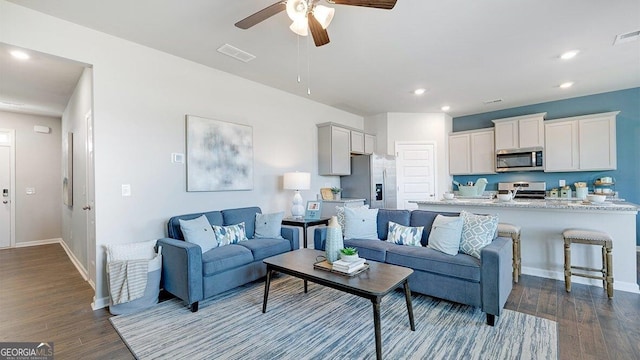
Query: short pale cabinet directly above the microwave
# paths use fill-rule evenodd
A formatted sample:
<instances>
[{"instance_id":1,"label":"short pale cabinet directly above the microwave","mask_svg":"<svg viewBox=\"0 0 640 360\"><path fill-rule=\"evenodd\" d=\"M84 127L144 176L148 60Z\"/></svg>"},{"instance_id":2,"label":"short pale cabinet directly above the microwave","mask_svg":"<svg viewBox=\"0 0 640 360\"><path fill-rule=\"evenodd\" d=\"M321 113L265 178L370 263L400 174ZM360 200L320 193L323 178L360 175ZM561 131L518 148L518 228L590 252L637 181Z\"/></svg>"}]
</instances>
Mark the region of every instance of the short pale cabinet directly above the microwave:
<instances>
[{"instance_id":1,"label":"short pale cabinet directly above the microwave","mask_svg":"<svg viewBox=\"0 0 640 360\"><path fill-rule=\"evenodd\" d=\"M544 116L547 113L492 120L495 124L495 150L544 146Z\"/></svg>"}]
</instances>

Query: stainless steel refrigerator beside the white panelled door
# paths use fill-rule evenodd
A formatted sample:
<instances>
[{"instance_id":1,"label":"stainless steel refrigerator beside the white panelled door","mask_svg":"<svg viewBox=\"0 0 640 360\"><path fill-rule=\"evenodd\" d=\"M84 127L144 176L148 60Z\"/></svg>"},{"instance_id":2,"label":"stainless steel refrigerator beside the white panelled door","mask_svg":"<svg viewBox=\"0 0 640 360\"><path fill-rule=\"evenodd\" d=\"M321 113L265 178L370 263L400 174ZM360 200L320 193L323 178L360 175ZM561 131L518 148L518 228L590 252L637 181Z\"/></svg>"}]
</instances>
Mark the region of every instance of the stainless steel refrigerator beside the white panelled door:
<instances>
[{"instance_id":1,"label":"stainless steel refrigerator beside the white panelled door","mask_svg":"<svg viewBox=\"0 0 640 360\"><path fill-rule=\"evenodd\" d=\"M396 209L396 160L392 156L354 155L351 175L340 176L342 197L365 199L371 208Z\"/></svg>"}]
</instances>

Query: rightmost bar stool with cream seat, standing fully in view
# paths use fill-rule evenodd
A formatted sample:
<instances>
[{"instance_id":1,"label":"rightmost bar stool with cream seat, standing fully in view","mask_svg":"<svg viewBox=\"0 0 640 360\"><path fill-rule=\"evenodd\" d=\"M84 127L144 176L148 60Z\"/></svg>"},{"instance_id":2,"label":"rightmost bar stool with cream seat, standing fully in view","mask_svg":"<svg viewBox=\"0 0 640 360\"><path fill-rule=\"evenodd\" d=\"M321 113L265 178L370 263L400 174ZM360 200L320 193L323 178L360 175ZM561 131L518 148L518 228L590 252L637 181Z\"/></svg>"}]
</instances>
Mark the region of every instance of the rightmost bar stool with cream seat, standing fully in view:
<instances>
[{"instance_id":1,"label":"rightmost bar stool with cream seat, standing fully in view","mask_svg":"<svg viewBox=\"0 0 640 360\"><path fill-rule=\"evenodd\" d=\"M607 296L613 298L613 239L609 234L584 229L567 229L562 232L564 239L564 283L567 292L571 292L571 276L582 276L591 279L601 279L602 287L607 290ZM602 269L583 266L571 266L571 244L586 244L602 246ZM587 273L572 273L571 269L600 272L602 275Z\"/></svg>"}]
</instances>

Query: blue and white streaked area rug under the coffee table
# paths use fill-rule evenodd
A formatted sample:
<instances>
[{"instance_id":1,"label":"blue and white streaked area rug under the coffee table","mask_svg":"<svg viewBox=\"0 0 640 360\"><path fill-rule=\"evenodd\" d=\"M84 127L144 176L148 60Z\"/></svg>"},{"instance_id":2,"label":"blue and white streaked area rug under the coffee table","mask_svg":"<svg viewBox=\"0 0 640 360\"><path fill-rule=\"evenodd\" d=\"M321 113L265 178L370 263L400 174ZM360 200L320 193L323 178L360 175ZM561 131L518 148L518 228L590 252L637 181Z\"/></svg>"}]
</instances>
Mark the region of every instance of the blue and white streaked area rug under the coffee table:
<instances>
[{"instance_id":1,"label":"blue and white streaked area rug under the coffee table","mask_svg":"<svg viewBox=\"0 0 640 360\"><path fill-rule=\"evenodd\" d=\"M168 300L111 318L138 359L374 359L373 307L367 299L277 275L267 313L264 284L231 290L192 313ZM496 326L477 308L413 294L416 331L404 293L382 299L386 359L557 359L557 324L504 310Z\"/></svg>"}]
</instances>

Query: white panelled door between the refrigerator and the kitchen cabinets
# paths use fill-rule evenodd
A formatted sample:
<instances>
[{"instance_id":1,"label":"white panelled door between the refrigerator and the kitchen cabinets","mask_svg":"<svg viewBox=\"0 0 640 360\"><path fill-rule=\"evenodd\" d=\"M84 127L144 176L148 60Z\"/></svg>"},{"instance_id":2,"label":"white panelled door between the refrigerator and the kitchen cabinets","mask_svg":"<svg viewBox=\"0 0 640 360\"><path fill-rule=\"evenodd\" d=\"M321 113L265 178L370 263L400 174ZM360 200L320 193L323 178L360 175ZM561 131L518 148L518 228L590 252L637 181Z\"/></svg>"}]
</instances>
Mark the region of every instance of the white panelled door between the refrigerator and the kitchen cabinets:
<instances>
[{"instance_id":1,"label":"white panelled door between the refrigerator and the kitchen cabinets","mask_svg":"<svg viewBox=\"0 0 640 360\"><path fill-rule=\"evenodd\" d=\"M435 199L435 144L396 143L396 169L399 209L418 208L418 205L409 201Z\"/></svg>"}]
</instances>

